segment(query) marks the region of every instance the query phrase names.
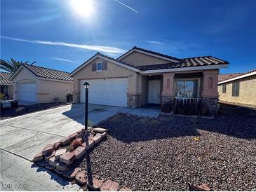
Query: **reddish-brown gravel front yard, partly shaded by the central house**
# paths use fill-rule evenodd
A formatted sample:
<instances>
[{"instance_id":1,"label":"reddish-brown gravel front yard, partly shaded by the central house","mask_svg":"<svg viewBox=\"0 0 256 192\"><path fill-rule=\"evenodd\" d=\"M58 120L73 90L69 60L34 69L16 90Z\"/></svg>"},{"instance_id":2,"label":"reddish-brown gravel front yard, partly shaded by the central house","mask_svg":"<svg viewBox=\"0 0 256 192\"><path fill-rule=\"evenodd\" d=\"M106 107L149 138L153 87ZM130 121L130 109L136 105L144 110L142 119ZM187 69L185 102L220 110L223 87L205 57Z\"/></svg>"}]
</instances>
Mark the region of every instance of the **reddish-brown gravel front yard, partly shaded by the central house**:
<instances>
[{"instance_id":1,"label":"reddish-brown gravel front yard, partly shaded by the central house","mask_svg":"<svg viewBox=\"0 0 256 192\"><path fill-rule=\"evenodd\" d=\"M215 120L115 116L102 123L109 134L90 153L92 172L133 191L188 191L201 183L255 191L256 111L245 112L222 110Z\"/></svg>"}]
</instances>

